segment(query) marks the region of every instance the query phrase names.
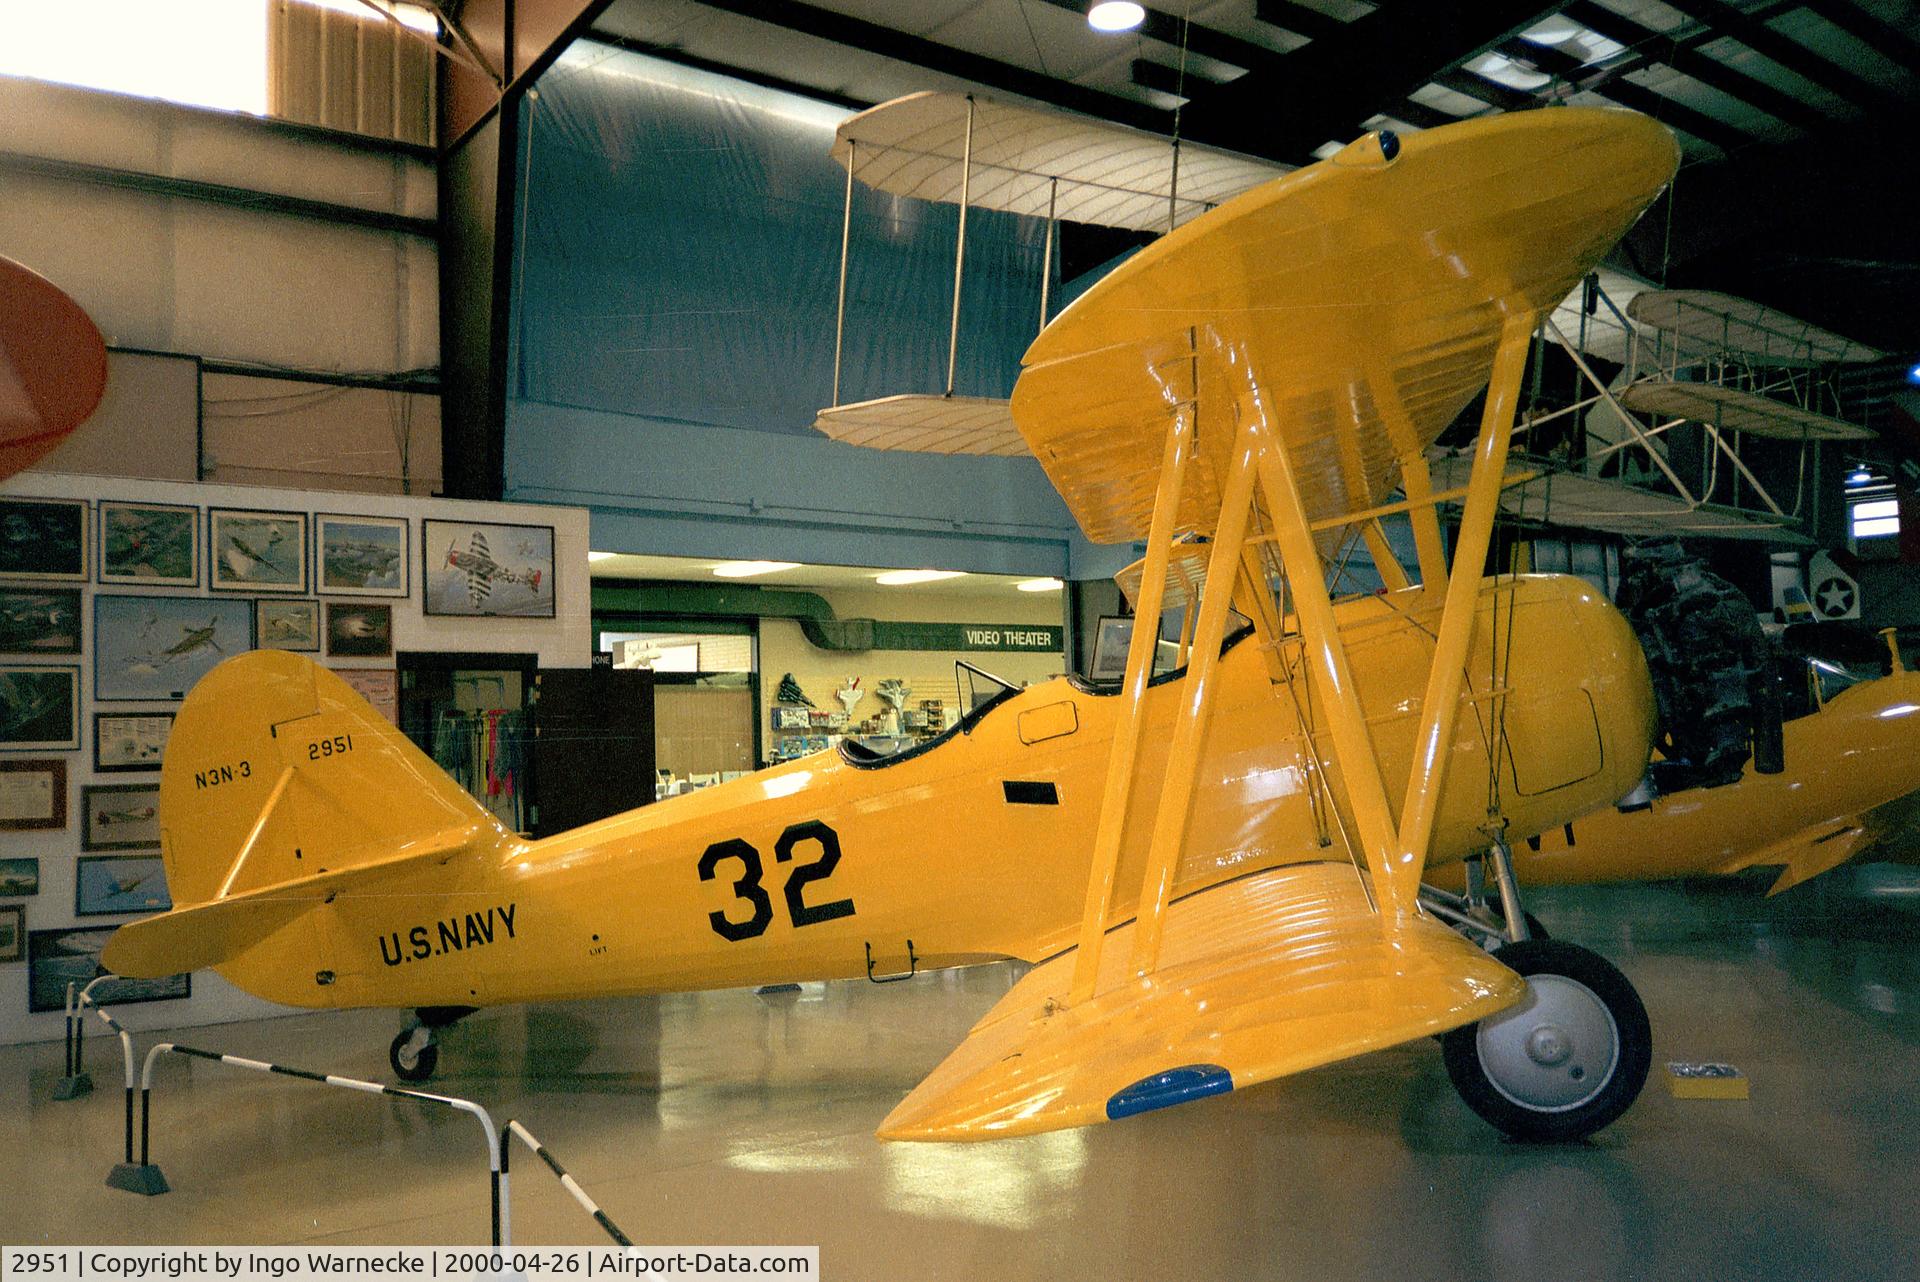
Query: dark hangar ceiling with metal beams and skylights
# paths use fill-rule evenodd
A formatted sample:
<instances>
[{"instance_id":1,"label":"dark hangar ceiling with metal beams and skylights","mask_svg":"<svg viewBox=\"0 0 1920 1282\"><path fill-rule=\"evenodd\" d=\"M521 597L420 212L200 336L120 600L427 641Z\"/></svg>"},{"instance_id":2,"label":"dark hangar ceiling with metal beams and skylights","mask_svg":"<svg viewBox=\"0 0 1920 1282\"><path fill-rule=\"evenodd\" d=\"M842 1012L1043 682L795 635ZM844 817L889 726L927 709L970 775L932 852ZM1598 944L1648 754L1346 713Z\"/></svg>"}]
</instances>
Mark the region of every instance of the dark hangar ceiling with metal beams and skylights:
<instances>
[{"instance_id":1,"label":"dark hangar ceiling with metal beams and skylights","mask_svg":"<svg viewBox=\"0 0 1920 1282\"><path fill-rule=\"evenodd\" d=\"M975 88L1300 165L1377 127L1549 104L1645 111L1688 163L1622 248L1910 353L1912 0L614 0L595 38L870 106Z\"/></svg>"}]
</instances>

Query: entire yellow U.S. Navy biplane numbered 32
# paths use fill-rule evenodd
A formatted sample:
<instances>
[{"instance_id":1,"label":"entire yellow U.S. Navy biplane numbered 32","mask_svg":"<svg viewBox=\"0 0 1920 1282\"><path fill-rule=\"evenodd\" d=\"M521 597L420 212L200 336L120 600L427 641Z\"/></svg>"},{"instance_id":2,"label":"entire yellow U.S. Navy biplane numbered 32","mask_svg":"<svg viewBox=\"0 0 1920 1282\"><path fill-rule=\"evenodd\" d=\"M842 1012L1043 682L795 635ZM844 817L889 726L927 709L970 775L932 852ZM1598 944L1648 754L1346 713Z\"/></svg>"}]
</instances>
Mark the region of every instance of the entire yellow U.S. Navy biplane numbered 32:
<instances>
[{"instance_id":1,"label":"entire yellow U.S. Navy biplane numbered 32","mask_svg":"<svg viewBox=\"0 0 1920 1282\"><path fill-rule=\"evenodd\" d=\"M419 1077L478 1006L1020 958L883 1138L1098 1123L1428 1034L1496 1127L1605 1127L1645 1080L1645 1011L1526 937L1507 844L1636 787L1647 668L1582 580L1484 566L1528 336L1676 161L1651 119L1572 107L1367 134L1041 332L1012 420L1092 539L1146 541L1139 618L1188 605L1179 672L1137 628L1117 687L1006 689L895 756L847 743L524 841L324 668L244 654L169 743L177 908L106 963L415 1008L394 1061ZM1471 480L1436 491L1427 449L1482 390ZM1350 539L1386 593L1331 599ZM1423 908L1428 866L1482 852L1494 952Z\"/></svg>"}]
</instances>

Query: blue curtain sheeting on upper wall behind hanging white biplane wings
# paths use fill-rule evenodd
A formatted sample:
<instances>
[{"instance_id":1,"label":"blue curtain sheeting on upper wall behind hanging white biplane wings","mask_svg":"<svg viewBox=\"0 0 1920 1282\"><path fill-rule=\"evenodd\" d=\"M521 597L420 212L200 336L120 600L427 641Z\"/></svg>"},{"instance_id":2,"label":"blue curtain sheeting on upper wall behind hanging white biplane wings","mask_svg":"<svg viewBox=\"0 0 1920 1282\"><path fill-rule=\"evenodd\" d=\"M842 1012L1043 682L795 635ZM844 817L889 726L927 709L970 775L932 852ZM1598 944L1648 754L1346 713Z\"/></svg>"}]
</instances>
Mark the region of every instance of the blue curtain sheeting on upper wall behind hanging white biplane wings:
<instances>
[{"instance_id":1,"label":"blue curtain sheeting on upper wall behind hanging white biplane wings","mask_svg":"<svg viewBox=\"0 0 1920 1282\"><path fill-rule=\"evenodd\" d=\"M522 123L524 401L810 432L831 401L849 113L578 42ZM841 399L947 386L952 205L854 184ZM970 211L956 392L1008 395L1044 225Z\"/></svg>"}]
</instances>

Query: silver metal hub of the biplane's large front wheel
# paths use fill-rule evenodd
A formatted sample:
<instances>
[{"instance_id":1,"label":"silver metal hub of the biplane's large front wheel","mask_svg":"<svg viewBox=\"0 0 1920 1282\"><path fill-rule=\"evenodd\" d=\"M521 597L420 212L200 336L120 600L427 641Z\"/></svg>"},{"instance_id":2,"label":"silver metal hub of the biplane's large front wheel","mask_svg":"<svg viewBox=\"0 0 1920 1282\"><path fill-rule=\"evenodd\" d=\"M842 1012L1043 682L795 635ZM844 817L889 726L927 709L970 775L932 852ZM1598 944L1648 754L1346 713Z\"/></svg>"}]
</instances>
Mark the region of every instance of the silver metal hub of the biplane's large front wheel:
<instances>
[{"instance_id":1,"label":"silver metal hub of the biplane's large front wheel","mask_svg":"<svg viewBox=\"0 0 1920 1282\"><path fill-rule=\"evenodd\" d=\"M1565 1113L1596 1098L1620 1059L1620 1031L1607 1004L1576 979L1530 975L1526 996L1482 1019L1480 1069L1509 1102Z\"/></svg>"}]
</instances>

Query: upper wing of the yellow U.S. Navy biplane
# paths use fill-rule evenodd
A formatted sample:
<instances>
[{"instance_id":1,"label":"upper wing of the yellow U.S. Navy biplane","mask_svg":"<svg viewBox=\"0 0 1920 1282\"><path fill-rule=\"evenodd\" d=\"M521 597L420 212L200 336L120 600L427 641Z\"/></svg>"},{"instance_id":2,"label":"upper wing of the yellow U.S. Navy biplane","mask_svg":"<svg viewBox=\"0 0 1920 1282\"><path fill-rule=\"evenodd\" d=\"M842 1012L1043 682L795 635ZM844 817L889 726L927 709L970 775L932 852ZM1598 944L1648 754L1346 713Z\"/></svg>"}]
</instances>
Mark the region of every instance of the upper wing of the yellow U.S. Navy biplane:
<instances>
[{"instance_id":1,"label":"upper wing of the yellow U.S. Navy biplane","mask_svg":"<svg viewBox=\"0 0 1920 1282\"><path fill-rule=\"evenodd\" d=\"M1200 407L1183 512L1204 528L1248 378L1311 518L1373 507L1486 386L1505 319L1563 299L1678 163L1657 121L1582 107L1380 148L1361 138L1188 223L1035 340L1014 420L1089 537L1146 532L1181 401Z\"/></svg>"}]
</instances>

